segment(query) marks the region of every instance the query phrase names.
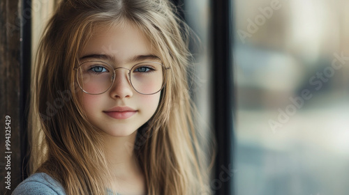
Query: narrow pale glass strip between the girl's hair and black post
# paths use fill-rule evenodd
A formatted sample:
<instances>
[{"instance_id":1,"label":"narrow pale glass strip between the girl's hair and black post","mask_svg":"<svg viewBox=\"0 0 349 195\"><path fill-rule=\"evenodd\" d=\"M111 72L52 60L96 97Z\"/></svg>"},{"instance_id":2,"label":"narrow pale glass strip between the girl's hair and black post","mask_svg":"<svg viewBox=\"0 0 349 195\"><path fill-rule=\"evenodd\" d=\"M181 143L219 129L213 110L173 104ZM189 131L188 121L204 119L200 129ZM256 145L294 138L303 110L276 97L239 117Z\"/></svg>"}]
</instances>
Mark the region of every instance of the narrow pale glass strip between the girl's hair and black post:
<instances>
[{"instance_id":1,"label":"narrow pale glass strip between the girl's hair and black post","mask_svg":"<svg viewBox=\"0 0 349 195\"><path fill-rule=\"evenodd\" d=\"M198 107L198 125L202 132L209 133L211 123L211 75L209 55L209 1L191 0L184 2L184 18L193 30L190 49L193 54L194 65L188 75L191 95Z\"/></svg>"}]
</instances>

